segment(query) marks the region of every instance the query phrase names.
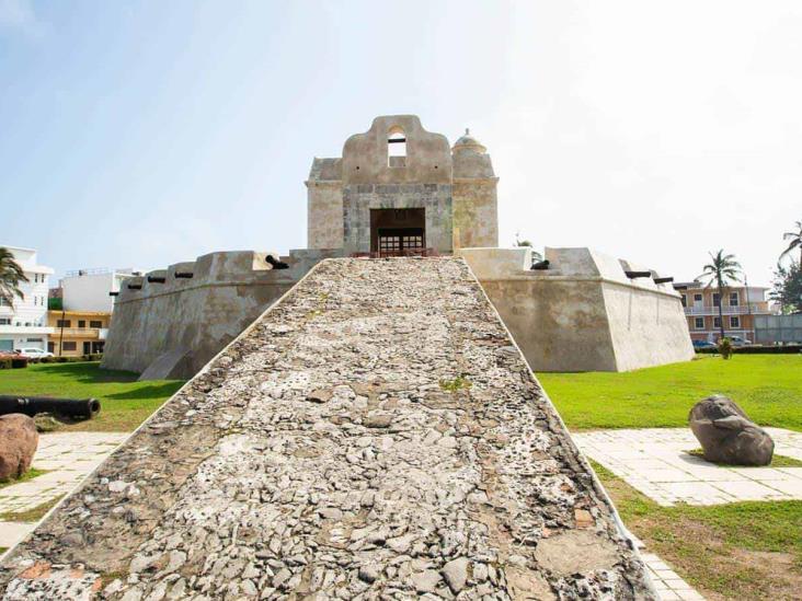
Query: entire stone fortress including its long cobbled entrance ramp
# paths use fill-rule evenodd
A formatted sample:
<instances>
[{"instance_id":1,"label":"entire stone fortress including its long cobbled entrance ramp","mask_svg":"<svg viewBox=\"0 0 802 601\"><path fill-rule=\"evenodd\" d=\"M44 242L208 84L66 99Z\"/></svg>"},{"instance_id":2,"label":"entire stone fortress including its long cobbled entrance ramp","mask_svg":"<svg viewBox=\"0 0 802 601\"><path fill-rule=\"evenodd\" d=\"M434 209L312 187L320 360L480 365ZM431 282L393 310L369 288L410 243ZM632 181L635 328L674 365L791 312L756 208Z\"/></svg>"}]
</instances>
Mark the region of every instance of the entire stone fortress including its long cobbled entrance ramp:
<instances>
[{"instance_id":1,"label":"entire stone fortress including its long cobbled entrance ramp","mask_svg":"<svg viewBox=\"0 0 802 601\"><path fill-rule=\"evenodd\" d=\"M104 365L194 375L3 555L0 598L656 600L530 367L688 358L665 278L499 249L485 149L413 116L307 186L311 249L121 291Z\"/></svg>"}]
</instances>

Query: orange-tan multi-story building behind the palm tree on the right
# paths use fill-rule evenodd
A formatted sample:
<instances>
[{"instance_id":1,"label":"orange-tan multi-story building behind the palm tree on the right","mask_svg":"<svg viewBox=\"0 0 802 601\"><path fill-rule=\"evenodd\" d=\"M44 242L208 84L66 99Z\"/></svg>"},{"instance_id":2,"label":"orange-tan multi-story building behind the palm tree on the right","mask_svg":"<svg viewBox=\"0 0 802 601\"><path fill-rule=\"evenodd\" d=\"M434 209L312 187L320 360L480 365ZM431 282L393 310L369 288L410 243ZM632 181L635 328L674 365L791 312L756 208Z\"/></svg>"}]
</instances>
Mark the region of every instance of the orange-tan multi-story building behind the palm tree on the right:
<instances>
[{"instance_id":1,"label":"orange-tan multi-story building behind the palm tree on the right","mask_svg":"<svg viewBox=\"0 0 802 601\"><path fill-rule=\"evenodd\" d=\"M722 301L718 288L698 280L677 282L674 288L683 297L691 339L718 340L721 336L719 303ZM760 286L732 286L724 290L721 313L725 336L755 339L755 315L771 313L766 290L768 288Z\"/></svg>"}]
</instances>

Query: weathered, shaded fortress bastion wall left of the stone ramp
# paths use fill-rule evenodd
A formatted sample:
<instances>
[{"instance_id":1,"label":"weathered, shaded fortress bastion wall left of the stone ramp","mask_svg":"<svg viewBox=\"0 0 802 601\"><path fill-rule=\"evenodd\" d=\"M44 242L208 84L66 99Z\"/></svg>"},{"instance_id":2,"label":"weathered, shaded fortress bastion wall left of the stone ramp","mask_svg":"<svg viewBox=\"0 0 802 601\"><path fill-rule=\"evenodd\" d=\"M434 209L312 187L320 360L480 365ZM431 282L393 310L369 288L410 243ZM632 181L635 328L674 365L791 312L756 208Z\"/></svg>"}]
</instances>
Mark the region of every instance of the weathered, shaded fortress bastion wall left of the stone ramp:
<instances>
[{"instance_id":1,"label":"weathered, shaded fortress bastion wall left of the stone ramp","mask_svg":"<svg viewBox=\"0 0 802 601\"><path fill-rule=\"evenodd\" d=\"M141 289L124 286L117 297L103 367L141 373L161 360L148 379L190 378L321 258L339 255L293 251L288 269L273 269L267 254L278 256L211 253L129 280Z\"/></svg>"}]
</instances>

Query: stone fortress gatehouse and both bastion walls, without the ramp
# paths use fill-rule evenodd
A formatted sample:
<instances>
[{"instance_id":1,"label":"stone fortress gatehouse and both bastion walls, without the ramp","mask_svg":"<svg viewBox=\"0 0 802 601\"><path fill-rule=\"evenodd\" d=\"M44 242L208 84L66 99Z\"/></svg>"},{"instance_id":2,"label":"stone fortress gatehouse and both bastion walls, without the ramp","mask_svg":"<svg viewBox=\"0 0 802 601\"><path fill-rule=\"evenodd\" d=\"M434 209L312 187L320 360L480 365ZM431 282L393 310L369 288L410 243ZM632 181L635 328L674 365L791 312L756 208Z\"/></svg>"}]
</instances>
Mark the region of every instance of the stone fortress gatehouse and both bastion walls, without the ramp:
<instances>
[{"instance_id":1,"label":"stone fortress gatehouse and both bastion walls, without the ramp","mask_svg":"<svg viewBox=\"0 0 802 601\"><path fill-rule=\"evenodd\" d=\"M314 265L332 257L455 255L473 270L535 371L623 371L689 360L671 278L589 249L500 249L486 149L454 147L413 115L381 116L306 182L308 246L221 252L129 280L116 300L103 366L142 379L196 373Z\"/></svg>"}]
</instances>

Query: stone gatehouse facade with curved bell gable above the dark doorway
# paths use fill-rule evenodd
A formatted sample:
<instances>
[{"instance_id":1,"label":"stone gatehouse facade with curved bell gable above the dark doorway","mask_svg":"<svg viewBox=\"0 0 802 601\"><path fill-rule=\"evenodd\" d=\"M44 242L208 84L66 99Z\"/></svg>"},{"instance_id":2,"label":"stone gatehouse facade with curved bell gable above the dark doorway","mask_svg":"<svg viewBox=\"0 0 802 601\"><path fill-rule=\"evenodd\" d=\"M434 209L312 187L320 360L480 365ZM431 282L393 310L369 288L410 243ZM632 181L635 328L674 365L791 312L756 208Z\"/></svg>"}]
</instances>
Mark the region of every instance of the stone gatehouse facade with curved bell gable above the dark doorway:
<instances>
[{"instance_id":1,"label":"stone gatehouse facade with curved bell gable above the dark doorway","mask_svg":"<svg viewBox=\"0 0 802 601\"><path fill-rule=\"evenodd\" d=\"M393 135L402 157L390 154ZM342 159L314 159L306 182L309 247L375 252L371 209L423 209L425 245L438 253L496 246L497 180L486 149L467 132L450 148L414 115L377 117L346 140Z\"/></svg>"}]
</instances>

